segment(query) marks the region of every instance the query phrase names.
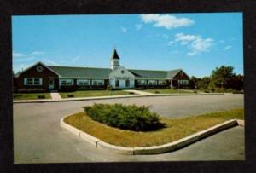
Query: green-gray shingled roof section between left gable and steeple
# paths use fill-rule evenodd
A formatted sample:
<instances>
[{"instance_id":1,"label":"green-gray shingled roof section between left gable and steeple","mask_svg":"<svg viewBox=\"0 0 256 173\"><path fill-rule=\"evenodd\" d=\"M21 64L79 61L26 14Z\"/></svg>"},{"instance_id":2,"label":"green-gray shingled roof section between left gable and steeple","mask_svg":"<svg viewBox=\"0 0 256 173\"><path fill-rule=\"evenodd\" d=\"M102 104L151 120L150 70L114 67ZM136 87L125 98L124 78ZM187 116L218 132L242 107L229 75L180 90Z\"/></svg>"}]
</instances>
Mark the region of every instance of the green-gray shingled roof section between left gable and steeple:
<instances>
[{"instance_id":1,"label":"green-gray shingled roof section between left gable and steeple","mask_svg":"<svg viewBox=\"0 0 256 173\"><path fill-rule=\"evenodd\" d=\"M48 66L62 78L108 78L110 68Z\"/></svg>"}]
</instances>

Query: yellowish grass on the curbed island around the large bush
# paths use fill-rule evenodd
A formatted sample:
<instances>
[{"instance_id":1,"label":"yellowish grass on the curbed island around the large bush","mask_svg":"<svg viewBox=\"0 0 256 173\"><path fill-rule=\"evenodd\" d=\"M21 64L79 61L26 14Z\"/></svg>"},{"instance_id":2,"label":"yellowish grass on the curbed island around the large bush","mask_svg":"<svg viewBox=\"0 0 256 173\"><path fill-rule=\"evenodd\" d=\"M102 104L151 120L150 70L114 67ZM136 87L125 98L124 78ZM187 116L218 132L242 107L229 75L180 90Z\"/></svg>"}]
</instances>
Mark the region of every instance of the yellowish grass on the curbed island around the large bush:
<instances>
[{"instance_id":1,"label":"yellowish grass on the curbed island around the large bush","mask_svg":"<svg viewBox=\"0 0 256 173\"><path fill-rule=\"evenodd\" d=\"M189 118L163 118L160 121L166 124L166 128L135 132L131 130L119 130L108 125L91 120L85 112L79 112L64 119L79 130L96 136L102 141L123 147L148 147L177 141L185 136L198 131L206 130L216 124L223 123L232 118L244 119L243 109L232 109L224 112L212 112Z\"/></svg>"}]
</instances>

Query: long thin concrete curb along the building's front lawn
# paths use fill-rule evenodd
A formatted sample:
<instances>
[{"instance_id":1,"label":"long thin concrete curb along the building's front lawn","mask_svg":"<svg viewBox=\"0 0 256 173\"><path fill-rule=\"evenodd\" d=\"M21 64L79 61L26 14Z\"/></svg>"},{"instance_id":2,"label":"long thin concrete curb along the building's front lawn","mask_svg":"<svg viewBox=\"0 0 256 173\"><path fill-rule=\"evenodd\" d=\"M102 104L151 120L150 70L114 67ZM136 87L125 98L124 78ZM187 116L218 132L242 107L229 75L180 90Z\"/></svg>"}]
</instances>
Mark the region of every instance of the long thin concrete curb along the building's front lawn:
<instances>
[{"instance_id":1,"label":"long thin concrete curb along the building's front lawn","mask_svg":"<svg viewBox=\"0 0 256 173\"><path fill-rule=\"evenodd\" d=\"M206 93L206 94L153 94L153 95L113 95L113 96L98 96L98 97L78 97L78 98L66 98L60 100L22 100L13 101L14 103L42 103L42 102L60 102L60 101L90 101L90 100L105 100L105 99L121 99L132 97L148 97L148 96L183 96L183 95L224 95L223 93Z\"/></svg>"}]
</instances>

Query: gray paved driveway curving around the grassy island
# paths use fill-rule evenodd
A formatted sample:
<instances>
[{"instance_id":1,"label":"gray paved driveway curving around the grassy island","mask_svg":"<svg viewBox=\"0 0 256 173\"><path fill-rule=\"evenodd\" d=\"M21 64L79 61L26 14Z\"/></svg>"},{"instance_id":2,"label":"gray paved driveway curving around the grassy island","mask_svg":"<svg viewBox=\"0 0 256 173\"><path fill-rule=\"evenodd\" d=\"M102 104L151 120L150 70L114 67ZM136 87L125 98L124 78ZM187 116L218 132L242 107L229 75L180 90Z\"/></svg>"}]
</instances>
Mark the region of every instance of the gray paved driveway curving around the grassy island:
<instances>
[{"instance_id":1,"label":"gray paved driveway curving around the grassy island","mask_svg":"<svg viewBox=\"0 0 256 173\"><path fill-rule=\"evenodd\" d=\"M244 129L225 130L176 152L127 156L96 149L60 127L60 119L96 103L148 105L168 118L243 107L243 95L158 96L14 104L15 163L244 159ZM218 146L218 147L216 147Z\"/></svg>"}]
</instances>

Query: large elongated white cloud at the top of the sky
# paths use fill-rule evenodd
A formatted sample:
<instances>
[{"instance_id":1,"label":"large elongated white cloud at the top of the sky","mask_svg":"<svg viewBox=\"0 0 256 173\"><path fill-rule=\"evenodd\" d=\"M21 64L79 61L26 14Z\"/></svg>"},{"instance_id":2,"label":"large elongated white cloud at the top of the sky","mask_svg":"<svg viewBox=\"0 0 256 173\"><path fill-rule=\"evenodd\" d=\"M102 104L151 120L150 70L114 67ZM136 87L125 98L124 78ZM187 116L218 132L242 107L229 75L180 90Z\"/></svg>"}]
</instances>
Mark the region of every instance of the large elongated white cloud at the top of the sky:
<instances>
[{"instance_id":1,"label":"large elongated white cloud at the top of the sky","mask_svg":"<svg viewBox=\"0 0 256 173\"><path fill-rule=\"evenodd\" d=\"M190 20L189 18L177 18L170 14L141 14L140 17L146 24L153 23L155 27L165 27L166 29L195 24L194 20Z\"/></svg>"}]
</instances>

